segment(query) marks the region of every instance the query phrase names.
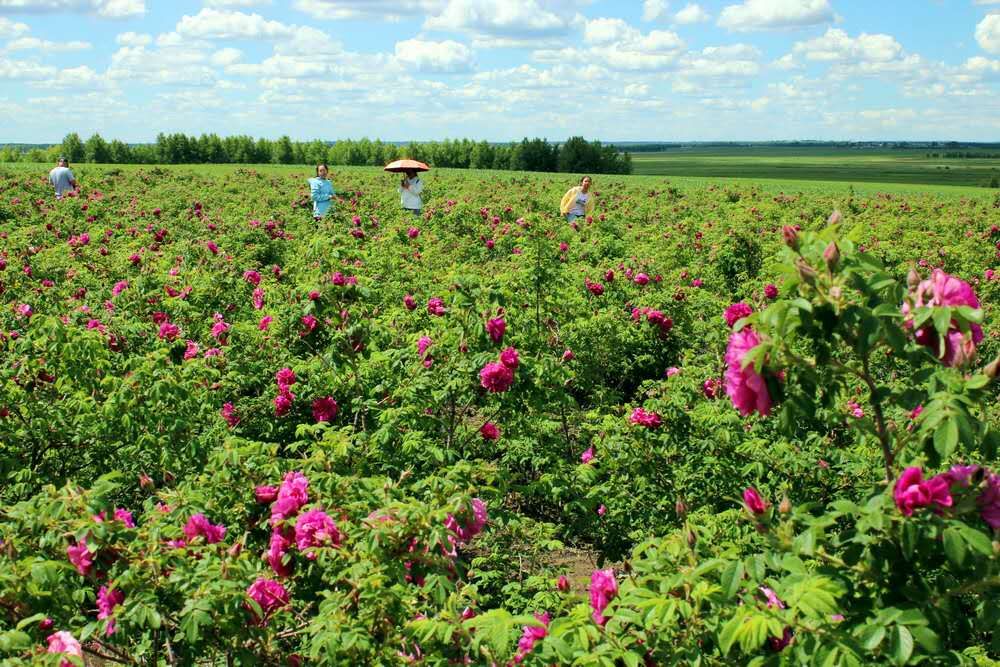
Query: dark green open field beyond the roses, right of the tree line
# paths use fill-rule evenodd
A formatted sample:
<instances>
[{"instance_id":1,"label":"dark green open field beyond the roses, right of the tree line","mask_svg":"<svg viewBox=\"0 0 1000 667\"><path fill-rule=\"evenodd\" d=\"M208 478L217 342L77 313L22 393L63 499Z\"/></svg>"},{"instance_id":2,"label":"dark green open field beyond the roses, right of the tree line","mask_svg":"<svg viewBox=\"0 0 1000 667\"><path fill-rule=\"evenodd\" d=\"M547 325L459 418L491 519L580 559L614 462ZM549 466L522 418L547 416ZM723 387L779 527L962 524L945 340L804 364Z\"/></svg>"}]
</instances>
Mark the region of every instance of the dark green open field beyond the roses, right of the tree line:
<instances>
[{"instance_id":1,"label":"dark green open field beyond the roses, right of the tree line","mask_svg":"<svg viewBox=\"0 0 1000 667\"><path fill-rule=\"evenodd\" d=\"M970 187L987 186L994 178L1000 181L1000 160L928 157L935 152L941 154L940 149L678 148L662 153L633 153L632 164L636 174L662 176Z\"/></svg>"}]
</instances>

